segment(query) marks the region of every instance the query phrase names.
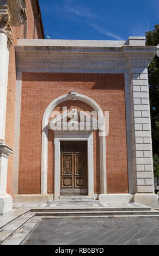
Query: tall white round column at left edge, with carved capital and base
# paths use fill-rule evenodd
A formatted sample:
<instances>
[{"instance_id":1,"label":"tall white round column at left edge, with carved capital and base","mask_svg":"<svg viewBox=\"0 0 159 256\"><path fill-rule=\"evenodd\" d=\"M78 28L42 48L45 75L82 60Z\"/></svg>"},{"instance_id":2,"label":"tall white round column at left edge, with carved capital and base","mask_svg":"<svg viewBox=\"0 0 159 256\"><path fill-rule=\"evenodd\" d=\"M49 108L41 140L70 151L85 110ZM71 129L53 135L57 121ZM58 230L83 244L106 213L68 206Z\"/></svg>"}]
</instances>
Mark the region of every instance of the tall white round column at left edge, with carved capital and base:
<instances>
[{"instance_id":1,"label":"tall white round column at left edge, with carved capital and base","mask_svg":"<svg viewBox=\"0 0 159 256\"><path fill-rule=\"evenodd\" d=\"M12 197L7 194L8 156L12 149L5 144L5 116L7 105L9 47L11 46L9 15L0 16L0 214L11 211Z\"/></svg>"}]
</instances>

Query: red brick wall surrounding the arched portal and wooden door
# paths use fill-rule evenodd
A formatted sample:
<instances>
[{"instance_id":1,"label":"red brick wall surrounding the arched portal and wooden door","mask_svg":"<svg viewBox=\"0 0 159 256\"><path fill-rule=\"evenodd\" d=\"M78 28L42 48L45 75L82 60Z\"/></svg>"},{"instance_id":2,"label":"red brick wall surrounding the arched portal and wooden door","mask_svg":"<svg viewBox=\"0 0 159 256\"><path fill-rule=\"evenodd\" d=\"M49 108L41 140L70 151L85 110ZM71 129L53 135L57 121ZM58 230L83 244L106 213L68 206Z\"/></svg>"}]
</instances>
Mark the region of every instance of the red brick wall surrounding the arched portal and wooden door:
<instances>
[{"instance_id":1,"label":"red brick wall surrounding the arched portal and wooden door","mask_svg":"<svg viewBox=\"0 0 159 256\"><path fill-rule=\"evenodd\" d=\"M128 193L125 92L123 74L23 74L20 131L19 193L40 193L41 122L48 104L77 90L109 111L107 192ZM65 106L63 103L56 109ZM86 110L79 101L68 108ZM90 109L90 108L89 108ZM89 110L87 109L87 110ZM90 109L91 110L91 109ZM94 192L100 192L99 137L94 132ZM48 193L53 193L53 132L48 133Z\"/></svg>"}]
</instances>

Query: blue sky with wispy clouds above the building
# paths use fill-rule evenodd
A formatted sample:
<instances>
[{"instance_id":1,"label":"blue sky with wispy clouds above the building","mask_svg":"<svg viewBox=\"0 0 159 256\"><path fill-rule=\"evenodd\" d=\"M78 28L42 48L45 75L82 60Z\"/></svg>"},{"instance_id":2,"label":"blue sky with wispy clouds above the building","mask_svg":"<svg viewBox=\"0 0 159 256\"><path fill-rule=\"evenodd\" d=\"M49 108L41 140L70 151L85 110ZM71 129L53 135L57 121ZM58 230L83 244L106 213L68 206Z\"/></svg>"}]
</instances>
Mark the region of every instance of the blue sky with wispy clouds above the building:
<instances>
[{"instance_id":1,"label":"blue sky with wispy clouds above the building","mask_svg":"<svg viewBox=\"0 0 159 256\"><path fill-rule=\"evenodd\" d=\"M159 0L39 0L51 39L127 40L159 24Z\"/></svg>"}]
</instances>

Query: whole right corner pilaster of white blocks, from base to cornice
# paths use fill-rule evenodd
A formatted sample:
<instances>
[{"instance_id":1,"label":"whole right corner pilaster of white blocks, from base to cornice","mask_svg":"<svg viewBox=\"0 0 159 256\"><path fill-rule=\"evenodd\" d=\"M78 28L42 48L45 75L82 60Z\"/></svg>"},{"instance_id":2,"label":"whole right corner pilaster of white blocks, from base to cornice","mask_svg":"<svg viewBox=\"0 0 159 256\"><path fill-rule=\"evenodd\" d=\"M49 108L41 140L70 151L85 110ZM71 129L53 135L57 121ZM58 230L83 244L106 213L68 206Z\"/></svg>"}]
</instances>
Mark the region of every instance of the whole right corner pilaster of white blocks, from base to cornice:
<instances>
[{"instance_id":1,"label":"whole right corner pilaster of white blocks, from base to cornice","mask_svg":"<svg viewBox=\"0 0 159 256\"><path fill-rule=\"evenodd\" d=\"M158 207L154 193L154 172L152 159L151 119L149 103L148 65L155 55L140 46L124 47L130 67L131 124L134 172L134 202ZM134 39L131 42L134 45ZM132 46L133 46L132 45Z\"/></svg>"}]
</instances>

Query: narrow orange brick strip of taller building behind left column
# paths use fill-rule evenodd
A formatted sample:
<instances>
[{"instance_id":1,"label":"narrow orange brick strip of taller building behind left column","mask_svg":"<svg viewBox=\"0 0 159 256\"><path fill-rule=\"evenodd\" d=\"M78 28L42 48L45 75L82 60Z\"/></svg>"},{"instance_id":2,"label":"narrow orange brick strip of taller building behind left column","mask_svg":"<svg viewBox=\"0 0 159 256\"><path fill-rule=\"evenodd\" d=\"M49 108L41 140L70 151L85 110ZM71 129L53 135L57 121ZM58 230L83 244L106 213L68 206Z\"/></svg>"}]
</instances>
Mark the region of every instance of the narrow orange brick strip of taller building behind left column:
<instances>
[{"instance_id":1,"label":"narrow orange brick strip of taller building behind left column","mask_svg":"<svg viewBox=\"0 0 159 256\"><path fill-rule=\"evenodd\" d=\"M33 39L34 31L34 17L31 0L26 0L26 15L27 15L27 39ZM17 38L23 39L23 25L13 27L11 35L13 45L10 47L9 54L9 73L8 73L8 92L7 92L7 110L6 110L6 124L5 124L5 143L14 150L14 118L15 118L15 90L16 90L16 64L15 64L15 45L17 45ZM35 39L37 39L37 31L35 29ZM13 155L8 160L8 178L7 178L7 192L12 193L12 179L13 179Z\"/></svg>"}]
</instances>

